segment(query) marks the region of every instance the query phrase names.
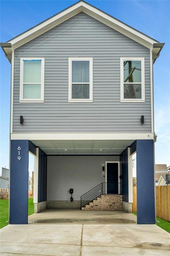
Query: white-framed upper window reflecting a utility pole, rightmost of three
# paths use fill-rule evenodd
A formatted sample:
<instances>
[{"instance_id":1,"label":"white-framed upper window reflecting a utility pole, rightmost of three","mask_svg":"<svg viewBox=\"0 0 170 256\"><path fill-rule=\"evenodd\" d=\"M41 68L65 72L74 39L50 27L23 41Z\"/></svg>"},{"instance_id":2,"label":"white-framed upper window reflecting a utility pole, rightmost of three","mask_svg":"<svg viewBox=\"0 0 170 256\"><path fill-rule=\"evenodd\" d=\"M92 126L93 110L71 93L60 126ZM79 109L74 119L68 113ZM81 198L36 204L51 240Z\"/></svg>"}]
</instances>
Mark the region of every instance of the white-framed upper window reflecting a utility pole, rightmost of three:
<instances>
[{"instance_id":1,"label":"white-framed upper window reflecting a utility pole, rightmost of three","mask_svg":"<svg viewBox=\"0 0 170 256\"><path fill-rule=\"evenodd\" d=\"M121 58L121 102L144 101L144 58Z\"/></svg>"}]
</instances>

